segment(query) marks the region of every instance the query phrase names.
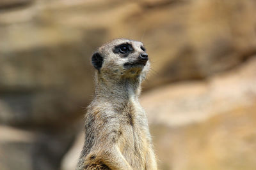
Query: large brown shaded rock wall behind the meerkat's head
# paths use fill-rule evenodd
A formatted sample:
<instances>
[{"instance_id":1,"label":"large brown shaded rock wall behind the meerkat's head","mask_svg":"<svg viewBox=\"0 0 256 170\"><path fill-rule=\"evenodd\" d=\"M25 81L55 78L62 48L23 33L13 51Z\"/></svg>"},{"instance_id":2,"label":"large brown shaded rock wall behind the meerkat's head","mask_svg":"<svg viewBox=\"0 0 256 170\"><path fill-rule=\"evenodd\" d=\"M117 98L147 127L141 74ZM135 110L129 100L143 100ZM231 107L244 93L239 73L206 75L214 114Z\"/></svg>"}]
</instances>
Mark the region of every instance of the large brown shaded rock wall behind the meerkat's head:
<instances>
[{"instance_id":1,"label":"large brown shaded rock wall behind the meerkat's head","mask_svg":"<svg viewBox=\"0 0 256 170\"><path fill-rule=\"evenodd\" d=\"M35 1L2 11L2 124L76 119L81 113L77 108L92 95L93 50L129 31L131 38L144 32L141 38L148 43L156 74L152 71L146 88L206 78L255 53L254 1L171 2L112 0L102 6L103 1ZM108 8L112 4L115 8Z\"/></svg>"}]
</instances>

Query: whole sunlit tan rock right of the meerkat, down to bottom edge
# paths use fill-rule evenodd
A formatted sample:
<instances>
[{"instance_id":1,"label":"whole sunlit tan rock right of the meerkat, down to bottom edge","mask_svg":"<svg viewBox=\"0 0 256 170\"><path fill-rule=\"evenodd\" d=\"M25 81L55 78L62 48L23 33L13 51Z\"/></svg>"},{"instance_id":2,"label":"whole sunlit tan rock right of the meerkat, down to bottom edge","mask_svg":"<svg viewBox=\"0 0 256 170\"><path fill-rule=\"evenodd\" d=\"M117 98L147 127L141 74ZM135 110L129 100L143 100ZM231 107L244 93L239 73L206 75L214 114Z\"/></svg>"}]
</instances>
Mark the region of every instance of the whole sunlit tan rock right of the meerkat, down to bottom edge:
<instances>
[{"instance_id":1,"label":"whole sunlit tan rock right of the meerkat, down to bottom edge","mask_svg":"<svg viewBox=\"0 0 256 170\"><path fill-rule=\"evenodd\" d=\"M256 166L256 57L206 81L176 83L141 97L159 169Z\"/></svg>"}]
</instances>

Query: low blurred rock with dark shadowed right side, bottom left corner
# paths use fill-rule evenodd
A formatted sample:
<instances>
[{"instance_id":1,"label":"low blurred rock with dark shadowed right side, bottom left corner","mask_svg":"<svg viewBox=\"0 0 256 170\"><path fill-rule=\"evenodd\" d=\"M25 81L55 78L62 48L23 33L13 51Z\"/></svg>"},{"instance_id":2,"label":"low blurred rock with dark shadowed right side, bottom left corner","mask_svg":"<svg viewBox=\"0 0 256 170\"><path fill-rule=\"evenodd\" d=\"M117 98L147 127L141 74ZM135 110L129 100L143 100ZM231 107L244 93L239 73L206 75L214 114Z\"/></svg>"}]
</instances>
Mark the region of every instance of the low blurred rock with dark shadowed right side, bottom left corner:
<instances>
[{"instance_id":1,"label":"low blurred rock with dark shadowed right side, bottom left corner","mask_svg":"<svg viewBox=\"0 0 256 170\"><path fill-rule=\"evenodd\" d=\"M62 131L33 131L0 126L0 167L10 169L60 169L74 141L76 127Z\"/></svg>"}]
</instances>

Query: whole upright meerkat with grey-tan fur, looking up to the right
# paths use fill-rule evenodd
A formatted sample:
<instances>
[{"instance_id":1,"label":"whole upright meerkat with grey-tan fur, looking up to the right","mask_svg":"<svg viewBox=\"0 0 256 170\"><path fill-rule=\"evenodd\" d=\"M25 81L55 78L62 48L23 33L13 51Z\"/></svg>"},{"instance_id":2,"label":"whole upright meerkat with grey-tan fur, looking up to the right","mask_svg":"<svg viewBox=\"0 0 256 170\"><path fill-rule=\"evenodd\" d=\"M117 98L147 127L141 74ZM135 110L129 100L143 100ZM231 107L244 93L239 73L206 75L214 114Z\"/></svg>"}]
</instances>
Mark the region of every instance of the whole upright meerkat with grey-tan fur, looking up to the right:
<instances>
[{"instance_id":1,"label":"whole upright meerkat with grey-tan fur, looking up to the right","mask_svg":"<svg viewBox=\"0 0 256 170\"><path fill-rule=\"evenodd\" d=\"M85 115L77 170L157 169L145 111L138 96L150 68L140 41L114 39L92 56L95 96Z\"/></svg>"}]
</instances>

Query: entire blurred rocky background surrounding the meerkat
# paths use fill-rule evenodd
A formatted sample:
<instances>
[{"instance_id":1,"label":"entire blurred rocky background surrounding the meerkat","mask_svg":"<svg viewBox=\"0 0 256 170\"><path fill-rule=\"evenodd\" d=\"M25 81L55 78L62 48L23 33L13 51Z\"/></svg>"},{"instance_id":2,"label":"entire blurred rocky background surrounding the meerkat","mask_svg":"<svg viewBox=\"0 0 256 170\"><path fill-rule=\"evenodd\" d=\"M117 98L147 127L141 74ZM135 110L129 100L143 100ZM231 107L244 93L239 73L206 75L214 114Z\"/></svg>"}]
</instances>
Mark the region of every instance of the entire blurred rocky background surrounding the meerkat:
<instances>
[{"instance_id":1,"label":"entire blurred rocky background surrounding the meerkat","mask_svg":"<svg viewBox=\"0 0 256 170\"><path fill-rule=\"evenodd\" d=\"M255 0L1 0L0 169L74 169L90 57L120 37L150 55L159 169L255 169L255 13Z\"/></svg>"}]
</instances>

